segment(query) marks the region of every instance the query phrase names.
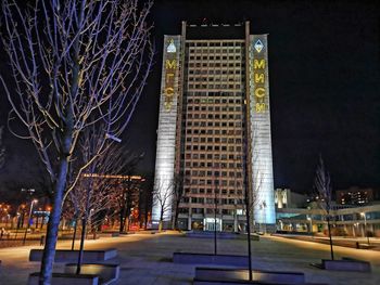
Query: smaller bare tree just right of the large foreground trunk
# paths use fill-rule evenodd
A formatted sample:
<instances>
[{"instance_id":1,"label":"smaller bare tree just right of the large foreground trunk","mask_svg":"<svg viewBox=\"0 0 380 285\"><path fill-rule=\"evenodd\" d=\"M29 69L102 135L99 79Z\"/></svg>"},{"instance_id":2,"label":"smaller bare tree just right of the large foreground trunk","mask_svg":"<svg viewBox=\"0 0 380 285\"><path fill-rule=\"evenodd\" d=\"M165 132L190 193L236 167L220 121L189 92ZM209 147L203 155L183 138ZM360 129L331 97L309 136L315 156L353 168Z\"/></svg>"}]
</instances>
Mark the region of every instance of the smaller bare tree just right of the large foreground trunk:
<instances>
[{"instance_id":1,"label":"smaller bare tree just right of the large foreground trunk","mask_svg":"<svg viewBox=\"0 0 380 285\"><path fill-rule=\"evenodd\" d=\"M80 172L81 165L87 165L87 167L81 171L80 178L74 189L67 193L69 200L76 208L76 219L81 218L81 237L77 274L80 273L87 224L90 222L89 225L96 234L94 217L99 212L113 208L116 205L117 192L112 183L110 183L110 174L118 174L126 164L123 157L125 153L124 147L116 146L115 144L107 144L104 150L99 153L103 144L101 130L102 125L93 125L83 132L79 143L79 152L81 155L78 155L77 160L79 161L76 161L79 168L75 169L75 171ZM96 159L93 159L93 157L96 157Z\"/></svg>"}]
</instances>

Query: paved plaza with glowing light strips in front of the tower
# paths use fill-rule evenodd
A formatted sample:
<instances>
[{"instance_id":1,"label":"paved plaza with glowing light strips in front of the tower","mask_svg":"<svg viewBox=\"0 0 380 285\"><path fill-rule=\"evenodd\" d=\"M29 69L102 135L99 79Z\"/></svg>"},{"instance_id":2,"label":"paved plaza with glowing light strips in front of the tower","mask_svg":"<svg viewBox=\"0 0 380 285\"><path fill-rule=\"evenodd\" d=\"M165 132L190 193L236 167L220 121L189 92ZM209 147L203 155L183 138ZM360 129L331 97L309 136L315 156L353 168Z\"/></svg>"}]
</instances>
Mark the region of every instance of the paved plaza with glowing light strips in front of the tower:
<instances>
[{"instance_id":1,"label":"paved plaza with glowing light strips in front of the tower","mask_svg":"<svg viewBox=\"0 0 380 285\"><path fill-rule=\"evenodd\" d=\"M371 273L322 271L309 265L329 258L329 246L282 237L264 236L252 242L253 268L276 271L302 271L307 282L331 285L376 285L380 284L380 251L334 247L337 258L352 257L371 262ZM69 248L71 242L59 243L59 248ZM29 262L28 254L36 246L0 249L0 284L25 284L30 272L39 270L38 262ZM121 263L121 278L124 284L191 284L194 265L174 264L174 251L214 251L212 238L190 238L174 232L161 234L131 234L121 237L103 237L87 241L87 249L117 248L118 257L112 262ZM244 255L246 242L240 239L218 241L219 254ZM56 264L55 270L62 270Z\"/></svg>"}]
</instances>

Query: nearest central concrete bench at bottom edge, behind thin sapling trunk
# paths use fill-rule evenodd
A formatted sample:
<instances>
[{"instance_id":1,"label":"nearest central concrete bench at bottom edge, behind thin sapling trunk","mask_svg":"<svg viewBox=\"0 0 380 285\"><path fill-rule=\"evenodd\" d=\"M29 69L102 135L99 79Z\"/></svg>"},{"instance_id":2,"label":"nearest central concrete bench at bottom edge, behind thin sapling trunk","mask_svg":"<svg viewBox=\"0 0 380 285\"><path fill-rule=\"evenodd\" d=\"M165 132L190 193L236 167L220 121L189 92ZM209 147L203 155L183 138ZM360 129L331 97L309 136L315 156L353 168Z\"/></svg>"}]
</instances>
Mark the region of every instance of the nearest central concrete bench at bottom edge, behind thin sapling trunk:
<instances>
[{"instance_id":1,"label":"nearest central concrete bench at bottom edge, behind thin sapling trunk","mask_svg":"<svg viewBox=\"0 0 380 285\"><path fill-rule=\"evenodd\" d=\"M305 274L303 272L253 270L252 277L254 282L266 284L305 284ZM249 281L249 270L195 268L195 280L245 282Z\"/></svg>"}]
</instances>

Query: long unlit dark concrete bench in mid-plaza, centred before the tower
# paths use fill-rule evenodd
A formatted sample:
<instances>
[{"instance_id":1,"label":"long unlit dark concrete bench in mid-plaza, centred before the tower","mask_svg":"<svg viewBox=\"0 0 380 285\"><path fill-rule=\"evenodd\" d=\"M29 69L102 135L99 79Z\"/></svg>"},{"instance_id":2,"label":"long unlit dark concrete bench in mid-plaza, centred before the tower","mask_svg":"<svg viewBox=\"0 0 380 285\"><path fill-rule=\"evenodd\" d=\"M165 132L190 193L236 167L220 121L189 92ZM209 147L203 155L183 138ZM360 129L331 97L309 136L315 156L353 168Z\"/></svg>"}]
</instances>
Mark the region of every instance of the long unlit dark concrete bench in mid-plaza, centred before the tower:
<instances>
[{"instance_id":1,"label":"long unlit dark concrete bench in mid-plaza, centred before the tower","mask_svg":"<svg viewBox=\"0 0 380 285\"><path fill-rule=\"evenodd\" d=\"M236 255L208 255L191 252L174 252L173 262L181 264L214 264L228 267L248 267L246 256Z\"/></svg>"}]
</instances>

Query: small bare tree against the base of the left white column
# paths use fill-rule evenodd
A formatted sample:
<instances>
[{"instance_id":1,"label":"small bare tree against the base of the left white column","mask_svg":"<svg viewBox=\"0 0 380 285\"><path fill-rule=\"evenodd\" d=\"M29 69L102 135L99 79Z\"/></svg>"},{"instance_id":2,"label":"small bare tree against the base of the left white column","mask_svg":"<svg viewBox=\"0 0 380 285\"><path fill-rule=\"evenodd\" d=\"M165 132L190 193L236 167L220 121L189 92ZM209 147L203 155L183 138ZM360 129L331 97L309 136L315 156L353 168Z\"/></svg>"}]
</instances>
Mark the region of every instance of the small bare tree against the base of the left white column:
<instances>
[{"instance_id":1,"label":"small bare tree against the base of the left white column","mask_svg":"<svg viewBox=\"0 0 380 285\"><path fill-rule=\"evenodd\" d=\"M160 208L159 231L163 230L164 216L172 209L174 181L156 180L153 189L153 200Z\"/></svg>"}]
</instances>

